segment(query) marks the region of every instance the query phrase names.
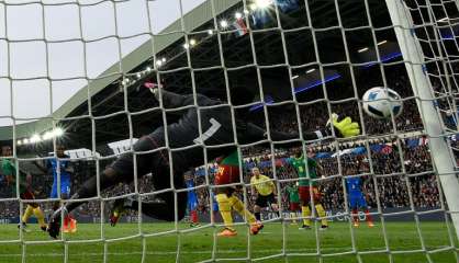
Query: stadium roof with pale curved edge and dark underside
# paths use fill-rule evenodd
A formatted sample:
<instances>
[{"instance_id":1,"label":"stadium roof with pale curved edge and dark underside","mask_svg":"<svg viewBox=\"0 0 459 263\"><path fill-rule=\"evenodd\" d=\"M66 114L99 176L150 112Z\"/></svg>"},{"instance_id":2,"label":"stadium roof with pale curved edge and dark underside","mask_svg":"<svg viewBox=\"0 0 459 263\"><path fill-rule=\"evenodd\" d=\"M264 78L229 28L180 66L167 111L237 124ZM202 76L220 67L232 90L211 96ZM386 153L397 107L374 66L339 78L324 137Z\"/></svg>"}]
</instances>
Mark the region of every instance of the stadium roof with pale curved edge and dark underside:
<instances>
[{"instance_id":1,"label":"stadium roof with pale curved edge and dark underside","mask_svg":"<svg viewBox=\"0 0 459 263\"><path fill-rule=\"evenodd\" d=\"M234 12L243 8L243 2L240 0L219 0L213 2L217 16L216 19L219 21L225 18L234 18ZM358 28L359 26L365 27L368 25L365 2L366 1L360 0L338 1L339 14L345 27ZM373 25L376 27L387 26L390 23L390 20L384 1L369 0L368 3ZM299 69L303 69L306 66L316 66L317 64L317 59L313 52L311 26L309 26L307 18L304 15L304 2L301 4L302 8L298 12L293 12L289 15L280 14L283 28L282 34L287 41L286 45L288 45L289 64ZM343 55L344 47L336 44L336 41L343 42L340 28L333 27L338 23L335 0L315 0L310 1L309 4L317 45L324 47L320 50L321 61L324 64L327 62L328 59L328 62L335 62L337 61L337 57L345 60ZM214 27L213 13L212 1L205 1L183 16L186 34L190 38L193 36L202 38L202 43L200 44L201 48L199 50L198 48L197 50L190 48L190 60L192 60L190 64L194 69L192 70L195 77L194 81L197 83L202 83L202 87L204 87L203 90L198 91L203 93L205 93L205 91L212 92L212 88L215 87L225 87L225 80L222 77L223 62L220 64L221 54L217 44L219 38L216 36L211 38L206 37L208 30ZM97 132L102 133L100 136L105 137L103 139L99 139L101 137L98 137L98 142L108 142L125 138L126 133L128 133L126 116L121 116L121 114L116 113L121 112L125 115L125 112L123 112L125 108L131 113L142 113L152 105L148 103L148 99L150 98L148 91L146 91L146 89L138 89L138 87L134 85L130 87L128 94L126 94L128 103L126 107L124 106L124 93L120 88L120 82L123 77L122 72L128 75L144 70L146 66L153 65L153 54L157 57L166 56L170 61L168 61L164 68L160 68L161 81L166 81L168 87L175 87L175 90L178 92L191 91L190 67L188 65L189 59L187 52L182 47L186 38L181 31L181 24L182 21L177 20L158 35L155 35L153 37L154 43L152 41L144 43L141 47L123 58L121 64L115 64L107 69L59 107L53 116L32 123L16 125L15 137L20 139L30 137L32 134L49 130L53 127L54 119L55 122L59 122L60 125L64 123L65 127L71 127L72 132L78 134L78 142L87 145L92 129L92 124L88 116L88 95L90 95L91 111L93 116L97 117L94 121ZM282 67L282 64L284 64L282 62L284 61L284 58L281 33L276 25L271 24L269 26L271 26L270 30L260 30L259 32L255 31L254 33L254 44L257 46L257 62L258 65L261 65L261 67L266 66L264 70L267 71L270 70L271 65ZM329 28L324 30L326 27ZM232 75L233 72L243 72L243 75L248 76L253 72L246 71L254 70L255 68L250 39L248 36L229 37L231 35L234 35L234 33L235 32L233 31L223 32L221 34L222 49L224 49L223 53L225 56L224 68L226 68L228 75ZM388 35L388 37L392 34L389 30L381 33ZM352 49L362 45L368 45L369 39L371 39L371 36L362 37L362 33L358 30L346 32L346 35L348 37L346 41L349 42L348 45ZM260 48L258 48L258 46ZM290 53L293 53L294 56ZM219 61L219 64L212 65L210 61ZM120 65L122 68L120 68ZM286 67L286 65L283 65L283 67ZM202 71L200 69L202 69ZM276 76L277 72L271 70L268 73ZM156 72L153 72L150 77L154 79ZM282 77L278 76L278 79L281 78ZM254 84L256 87L257 82L244 84ZM103 116L108 117L105 118ZM68 117L71 118L61 121L63 118ZM136 118L136 122L142 124L138 126L144 126L144 129L136 130L136 135L142 135L152 130L152 117L155 117L153 112L147 111L142 115L131 115L131 117ZM12 134L11 126L0 127L0 140L11 140ZM86 135L86 138L83 138L83 134Z\"/></svg>"}]
</instances>

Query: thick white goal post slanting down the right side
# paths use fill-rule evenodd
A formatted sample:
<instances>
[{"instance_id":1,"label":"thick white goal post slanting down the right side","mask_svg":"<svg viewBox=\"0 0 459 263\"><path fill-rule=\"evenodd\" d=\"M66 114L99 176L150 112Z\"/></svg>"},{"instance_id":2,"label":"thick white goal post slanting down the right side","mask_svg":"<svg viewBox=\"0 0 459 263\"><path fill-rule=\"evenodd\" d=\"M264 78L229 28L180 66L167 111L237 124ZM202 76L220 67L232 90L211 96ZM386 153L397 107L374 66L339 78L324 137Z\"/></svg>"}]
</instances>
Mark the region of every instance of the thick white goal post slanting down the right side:
<instances>
[{"instance_id":1,"label":"thick white goal post slanting down the right side","mask_svg":"<svg viewBox=\"0 0 459 263\"><path fill-rule=\"evenodd\" d=\"M448 134L445 129L440 112L438 111L436 102L437 98L434 95L434 90L427 76L426 61L418 39L416 39L408 8L404 0L385 0L385 2L403 55L413 93L416 96L416 103L423 119L425 134L429 139L430 155L448 204L447 213L452 219L456 237L459 239L458 171L456 160L448 147L447 138L448 136L451 136L451 134ZM429 5L430 1L426 2L427 12L433 12L430 9L432 5ZM435 21L430 22L435 23ZM437 28L435 27L434 30L436 31ZM437 33L435 33L435 35L438 36ZM441 37L439 39L436 37L434 41L441 41ZM449 61L440 62L448 64Z\"/></svg>"}]
</instances>

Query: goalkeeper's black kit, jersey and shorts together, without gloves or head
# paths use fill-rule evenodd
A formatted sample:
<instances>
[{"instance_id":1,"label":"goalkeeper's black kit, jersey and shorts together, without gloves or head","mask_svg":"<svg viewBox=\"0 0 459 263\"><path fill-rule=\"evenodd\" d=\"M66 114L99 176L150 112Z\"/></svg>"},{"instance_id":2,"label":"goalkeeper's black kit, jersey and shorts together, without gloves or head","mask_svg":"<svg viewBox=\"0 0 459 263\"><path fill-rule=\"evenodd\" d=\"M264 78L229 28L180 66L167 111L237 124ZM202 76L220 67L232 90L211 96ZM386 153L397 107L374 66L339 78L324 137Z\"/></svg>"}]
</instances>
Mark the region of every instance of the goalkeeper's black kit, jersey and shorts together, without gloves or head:
<instances>
[{"instance_id":1,"label":"goalkeeper's black kit, jersey and shorts together, without gloves or head","mask_svg":"<svg viewBox=\"0 0 459 263\"><path fill-rule=\"evenodd\" d=\"M172 186L170 185L171 178L169 176L170 165L172 167L173 187L183 188L186 187L183 173L190 168L204 164L204 160L213 161L216 157L234 152L236 141L240 145L267 139L266 132L262 128L248 123L243 117L233 119L231 107L224 105L221 101L198 94L195 100L200 107L197 110L195 106L192 106L194 103L192 95L179 95L167 91L163 91L161 94L163 104L168 112L173 108L180 110L183 106L191 107L181 108L184 113L179 121L163 125L152 134L138 139L134 145L137 176L152 173L155 190L165 190ZM198 111L200 114L198 114ZM198 122L199 119L200 122ZM236 126L234 128L233 123ZM234 129L236 130L236 136L234 136ZM167 130L167 138L165 130ZM318 133L305 134L304 138L315 139ZM294 133L286 134L271 130L270 137L273 141L279 141L295 139L299 136ZM283 146L287 147L289 144ZM114 174L116 176L112 178L126 182L132 181L133 174L135 174L133 160L133 153L126 152L114 161L111 168L115 171ZM102 179L107 181L108 176L103 175ZM92 180L92 187L90 187L92 192L80 191L80 197L91 196L96 193L96 179ZM116 181L111 182L115 183ZM109 185L108 183L101 184ZM173 192L164 192L155 196L164 201L164 203L160 203L160 205L153 204L148 215L159 219L173 220L176 215ZM71 204L76 206L76 203ZM187 207L187 192L177 194L177 204L178 216L181 218ZM71 205L69 206L71 207Z\"/></svg>"}]
</instances>

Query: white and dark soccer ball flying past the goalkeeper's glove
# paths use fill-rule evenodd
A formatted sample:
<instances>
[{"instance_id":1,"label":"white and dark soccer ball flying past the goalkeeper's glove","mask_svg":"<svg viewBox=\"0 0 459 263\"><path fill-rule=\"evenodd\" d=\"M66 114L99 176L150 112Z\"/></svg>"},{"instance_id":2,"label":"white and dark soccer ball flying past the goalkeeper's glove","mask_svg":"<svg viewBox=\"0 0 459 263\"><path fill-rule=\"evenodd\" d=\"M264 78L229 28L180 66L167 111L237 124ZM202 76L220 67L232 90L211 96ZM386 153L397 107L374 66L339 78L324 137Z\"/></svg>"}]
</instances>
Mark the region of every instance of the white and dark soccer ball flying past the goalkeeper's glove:
<instances>
[{"instance_id":1,"label":"white and dark soccer ball flying past the goalkeeper's glove","mask_svg":"<svg viewBox=\"0 0 459 263\"><path fill-rule=\"evenodd\" d=\"M391 112L396 117L403 110L400 99L399 93L389 88L371 88L363 94L363 110L374 118L390 118Z\"/></svg>"}]
</instances>

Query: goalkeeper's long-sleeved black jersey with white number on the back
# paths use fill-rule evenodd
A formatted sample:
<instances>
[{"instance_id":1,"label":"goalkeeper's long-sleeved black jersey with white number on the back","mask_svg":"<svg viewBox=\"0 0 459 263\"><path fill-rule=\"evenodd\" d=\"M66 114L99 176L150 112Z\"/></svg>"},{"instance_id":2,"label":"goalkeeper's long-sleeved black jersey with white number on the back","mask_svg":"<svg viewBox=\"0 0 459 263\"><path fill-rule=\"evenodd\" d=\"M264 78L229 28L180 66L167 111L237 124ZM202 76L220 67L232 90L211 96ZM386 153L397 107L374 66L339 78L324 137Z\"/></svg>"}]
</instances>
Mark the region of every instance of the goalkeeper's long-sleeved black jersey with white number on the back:
<instances>
[{"instance_id":1,"label":"goalkeeper's long-sleeved black jersey with white number on the back","mask_svg":"<svg viewBox=\"0 0 459 263\"><path fill-rule=\"evenodd\" d=\"M163 103L168 110L180 108L194 104L193 95L180 95L168 91L163 91ZM172 149L173 162L182 169L198 167L204 163L203 150L199 145L202 144L208 149L208 161L234 151L235 142L239 145L251 144L268 138L265 129L247 122L244 118L234 119L236 137L234 136L233 118L229 105L225 105L219 100L213 100L204 95L197 95L200 116L198 110L192 106L176 123L166 126L168 134L169 148ZM240 116L240 114L238 114ZM199 118L201 119L201 133L199 130ZM201 136L200 136L201 134ZM320 133L305 133L303 138L306 140L317 139ZM272 141L299 139L296 133L270 132ZM164 137L164 128L160 127L150 136L156 139ZM159 138L158 138L159 137ZM298 140L295 141L298 144ZM289 147L292 144L282 144ZM177 148L183 148L177 150ZM176 149L176 150L175 150ZM175 168L178 168L175 165Z\"/></svg>"}]
</instances>

